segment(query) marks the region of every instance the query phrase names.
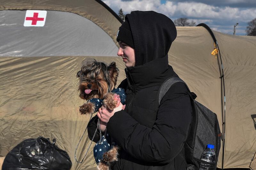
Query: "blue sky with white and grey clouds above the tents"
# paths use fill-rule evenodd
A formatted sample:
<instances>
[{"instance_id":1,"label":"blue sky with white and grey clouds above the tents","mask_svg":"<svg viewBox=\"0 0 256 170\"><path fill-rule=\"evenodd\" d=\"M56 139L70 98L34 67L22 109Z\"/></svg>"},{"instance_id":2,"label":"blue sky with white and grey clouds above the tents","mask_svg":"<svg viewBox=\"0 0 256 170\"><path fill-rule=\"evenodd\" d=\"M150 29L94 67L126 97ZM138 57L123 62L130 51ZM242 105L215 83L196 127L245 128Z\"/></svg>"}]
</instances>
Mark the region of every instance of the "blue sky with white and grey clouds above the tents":
<instances>
[{"instance_id":1,"label":"blue sky with white and grey clouds above the tents","mask_svg":"<svg viewBox=\"0 0 256 170\"><path fill-rule=\"evenodd\" d=\"M118 14L122 8L124 14L131 11L156 11L163 13L173 21L188 18L207 24L212 30L233 35L246 35L245 29L256 18L256 0L103 0Z\"/></svg>"}]
</instances>

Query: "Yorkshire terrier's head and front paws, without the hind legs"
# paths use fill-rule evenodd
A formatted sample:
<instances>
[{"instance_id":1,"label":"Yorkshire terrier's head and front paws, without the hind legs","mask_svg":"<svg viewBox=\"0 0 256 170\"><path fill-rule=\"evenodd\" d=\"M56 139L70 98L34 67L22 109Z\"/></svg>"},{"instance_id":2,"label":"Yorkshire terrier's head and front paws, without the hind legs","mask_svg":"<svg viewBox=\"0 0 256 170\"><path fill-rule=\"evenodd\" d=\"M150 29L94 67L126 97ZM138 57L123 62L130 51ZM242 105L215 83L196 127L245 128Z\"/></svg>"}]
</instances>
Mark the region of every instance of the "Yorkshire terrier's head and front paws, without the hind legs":
<instances>
[{"instance_id":1,"label":"Yorkshire terrier's head and front paws, without the hind legs","mask_svg":"<svg viewBox=\"0 0 256 170\"><path fill-rule=\"evenodd\" d=\"M103 62L97 62L95 59L84 60L81 70L76 74L80 79L78 86L79 97L84 100L102 100L104 98L102 104L113 110L117 101L114 100L114 93L111 91L116 85L118 72L115 62L107 65ZM80 106L79 111L82 115L93 114L100 108L99 106L101 107L101 102L99 101L97 103L88 101Z\"/></svg>"}]
</instances>

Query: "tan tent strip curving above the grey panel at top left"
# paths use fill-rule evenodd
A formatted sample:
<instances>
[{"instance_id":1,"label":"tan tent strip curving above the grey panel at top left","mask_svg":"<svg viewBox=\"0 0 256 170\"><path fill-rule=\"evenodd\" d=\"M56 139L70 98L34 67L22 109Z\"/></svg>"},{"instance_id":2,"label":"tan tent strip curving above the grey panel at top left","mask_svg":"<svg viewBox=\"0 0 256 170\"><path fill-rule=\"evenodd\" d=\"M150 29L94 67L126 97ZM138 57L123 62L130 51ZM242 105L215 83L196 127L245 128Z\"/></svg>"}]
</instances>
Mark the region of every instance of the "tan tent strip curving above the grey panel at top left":
<instances>
[{"instance_id":1,"label":"tan tent strip curving above the grey panel at top left","mask_svg":"<svg viewBox=\"0 0 256 170\"><path fill-rule=\"evenodd\" d=\"M98 2L97 2L98 1ZM102 28L113 40L120 21L99 0L1 0L0 10L52 10L81 15ZM104 4L104 3L103 3ZM117 42L115 42L118 45Z\"/></svg>"}]
</instances>

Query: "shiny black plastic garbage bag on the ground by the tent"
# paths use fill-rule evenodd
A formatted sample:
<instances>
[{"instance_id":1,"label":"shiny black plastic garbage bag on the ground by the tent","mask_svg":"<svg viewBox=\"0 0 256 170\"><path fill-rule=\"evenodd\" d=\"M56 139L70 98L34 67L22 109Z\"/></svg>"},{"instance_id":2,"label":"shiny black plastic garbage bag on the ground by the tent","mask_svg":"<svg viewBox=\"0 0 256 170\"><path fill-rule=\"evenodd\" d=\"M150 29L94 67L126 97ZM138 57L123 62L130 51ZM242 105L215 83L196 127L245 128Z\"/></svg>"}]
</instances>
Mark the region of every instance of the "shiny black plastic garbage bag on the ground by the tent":
<instances>
[{"instance_id":1,"label":"shiny black plastic garbage bag on the ground by the tent","mask_svg":"<svg viewBox=\"0 0 256 170\"><path fill-rule=\"evenodd\" d=\"M5 157L2 170L47 169L69 170L72 166L66 151L51 143L49 138L26 139Z\"/></svg>"}]
</instances>

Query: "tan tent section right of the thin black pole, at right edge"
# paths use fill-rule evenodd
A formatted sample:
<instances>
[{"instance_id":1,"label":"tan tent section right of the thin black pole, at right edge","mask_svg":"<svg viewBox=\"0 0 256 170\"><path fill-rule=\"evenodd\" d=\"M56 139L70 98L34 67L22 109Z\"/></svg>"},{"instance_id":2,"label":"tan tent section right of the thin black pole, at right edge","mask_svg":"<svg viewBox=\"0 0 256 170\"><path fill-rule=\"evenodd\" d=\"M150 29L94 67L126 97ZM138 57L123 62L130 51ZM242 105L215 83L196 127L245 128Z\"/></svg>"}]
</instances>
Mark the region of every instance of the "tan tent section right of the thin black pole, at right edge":
<instances>
[{"instance_id":1,"label":"tan tent section right of the thin black pole, at right edge","mask_svg":"<svg viewBox=\"0 0 256 170\"><path fill-rule=\"evenodd\" d=\"M256 151L256 37L214 32L222 51L226 89L224 167L248 168Z\"/></svg>"}]
</instances>

